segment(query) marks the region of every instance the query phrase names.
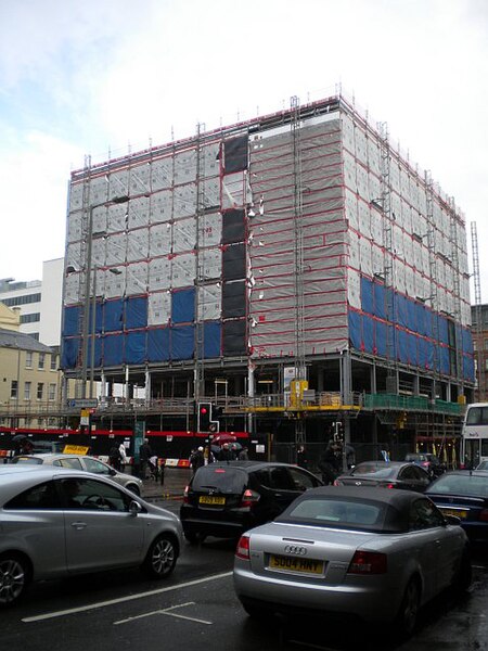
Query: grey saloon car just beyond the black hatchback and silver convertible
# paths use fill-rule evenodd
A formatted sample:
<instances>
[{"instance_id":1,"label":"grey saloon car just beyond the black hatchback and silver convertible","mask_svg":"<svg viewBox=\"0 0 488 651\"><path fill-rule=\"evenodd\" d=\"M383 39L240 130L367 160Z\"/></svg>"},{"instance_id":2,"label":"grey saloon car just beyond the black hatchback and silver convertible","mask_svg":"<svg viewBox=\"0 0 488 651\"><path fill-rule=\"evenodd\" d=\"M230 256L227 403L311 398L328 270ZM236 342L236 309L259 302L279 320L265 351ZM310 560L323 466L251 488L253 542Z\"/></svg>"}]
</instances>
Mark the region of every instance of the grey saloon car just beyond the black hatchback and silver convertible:
<instances>
[{"instance_id":1,"label":"grey saloon car just beyond the black hatchback and silver convertible","mask_svg":"<svg viewBox=\"0 0 488 651\"><path fill-rule=\"evenodd\" d=\"M336 486L376 486L423 493L431 483L428 473L408 461L363 461L341 474Z\"/></svg>"}]
</instances>

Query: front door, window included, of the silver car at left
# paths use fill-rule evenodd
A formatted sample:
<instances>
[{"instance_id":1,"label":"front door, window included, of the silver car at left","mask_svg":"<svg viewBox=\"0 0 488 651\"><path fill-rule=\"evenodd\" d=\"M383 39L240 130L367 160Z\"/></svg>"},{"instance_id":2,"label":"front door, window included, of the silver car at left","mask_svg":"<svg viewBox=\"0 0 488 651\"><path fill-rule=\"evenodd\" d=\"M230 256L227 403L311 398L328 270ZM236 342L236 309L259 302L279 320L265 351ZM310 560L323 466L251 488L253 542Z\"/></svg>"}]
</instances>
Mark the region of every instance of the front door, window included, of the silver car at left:
<instances>
[{"instance_id":1,"label":"front door, window included, of the silver car at left","mask_svg":"<svg viewBox=\"0 0 488 651\"><path fill-rule=\"evenodd\" d=\"M129 513L130 496L93 478L59 477L56 483L63 496L69 572L131 565L142 560L144 519Z\"/></svg>"}]
</instances>

